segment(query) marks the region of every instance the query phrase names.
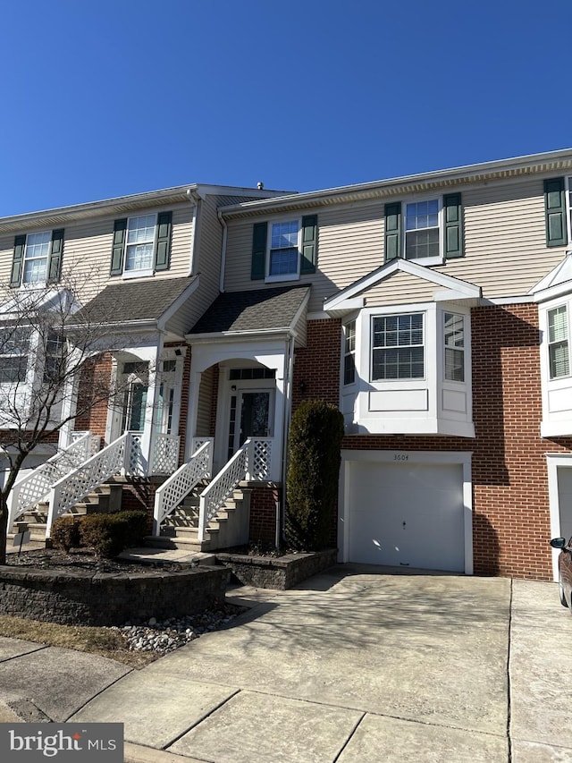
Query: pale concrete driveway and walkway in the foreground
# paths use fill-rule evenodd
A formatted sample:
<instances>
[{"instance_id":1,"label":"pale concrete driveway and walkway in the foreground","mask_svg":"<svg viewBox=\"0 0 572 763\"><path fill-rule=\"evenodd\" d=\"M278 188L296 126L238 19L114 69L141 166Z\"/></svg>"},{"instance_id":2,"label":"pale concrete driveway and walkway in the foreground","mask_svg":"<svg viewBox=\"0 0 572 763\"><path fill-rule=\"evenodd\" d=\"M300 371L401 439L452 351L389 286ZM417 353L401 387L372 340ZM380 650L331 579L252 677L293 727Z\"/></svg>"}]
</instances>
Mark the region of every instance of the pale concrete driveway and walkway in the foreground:
<instances>
[{"instance_id":1,"label":"pale concrete driveway and walkway in the foreground","mask_svg":"<svg viewBox=\"0 0 572 763\"><path fill-rule=\"evenodd\" d=\"M5 719L122 722L128 763L572 761L556 585L380 571L238 589L233 627L140 671L0 640Z\"/></svg>"}]
</instances>

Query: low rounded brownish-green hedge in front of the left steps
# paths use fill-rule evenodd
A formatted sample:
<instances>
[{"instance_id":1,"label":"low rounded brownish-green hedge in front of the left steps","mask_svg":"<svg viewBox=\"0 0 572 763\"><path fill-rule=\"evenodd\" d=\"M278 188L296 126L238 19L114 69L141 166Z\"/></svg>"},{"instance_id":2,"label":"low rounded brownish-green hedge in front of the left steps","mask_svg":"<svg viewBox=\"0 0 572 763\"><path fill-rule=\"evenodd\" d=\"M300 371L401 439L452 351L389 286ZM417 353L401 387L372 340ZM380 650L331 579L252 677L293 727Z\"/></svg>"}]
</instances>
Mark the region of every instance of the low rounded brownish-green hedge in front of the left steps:
<instances>
[{"instance_id":1,"label":"low rounded brownish-green hedge in front of the left steps","mask_svg":"<svg viewBox=\"0 0 572 763\"><path fill-rule=\"evenodd\" d=\"M63 516L54 522L52 541L55 547L69 551L87 546L98 556L116 556L124 548L139 546L147 531L145 512L88 514L82 517Z\"/></svg>"}]
</instances>

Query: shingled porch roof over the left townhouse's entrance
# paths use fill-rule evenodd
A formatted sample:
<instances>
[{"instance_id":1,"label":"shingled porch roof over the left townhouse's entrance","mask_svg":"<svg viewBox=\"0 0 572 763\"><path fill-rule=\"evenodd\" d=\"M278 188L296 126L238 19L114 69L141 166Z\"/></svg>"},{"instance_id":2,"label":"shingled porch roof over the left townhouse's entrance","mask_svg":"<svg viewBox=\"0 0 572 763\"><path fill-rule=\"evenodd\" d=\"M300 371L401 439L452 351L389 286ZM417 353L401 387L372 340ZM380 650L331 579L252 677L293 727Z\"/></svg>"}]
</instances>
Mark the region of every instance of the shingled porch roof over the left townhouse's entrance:
<instances>
[{"instance_id":1,"label":"shingled porch roof over the left townhouse's entrance","mask_svg":"<svg viewBox=\"0 0 572 763\"><path fill-rule=\"evenodd\" d=\"M85 319L92 324L159 320L196 277L153 278L132 283L110 284L75 313L73 323L81 323Z\"/></svg>"}]
</instances>

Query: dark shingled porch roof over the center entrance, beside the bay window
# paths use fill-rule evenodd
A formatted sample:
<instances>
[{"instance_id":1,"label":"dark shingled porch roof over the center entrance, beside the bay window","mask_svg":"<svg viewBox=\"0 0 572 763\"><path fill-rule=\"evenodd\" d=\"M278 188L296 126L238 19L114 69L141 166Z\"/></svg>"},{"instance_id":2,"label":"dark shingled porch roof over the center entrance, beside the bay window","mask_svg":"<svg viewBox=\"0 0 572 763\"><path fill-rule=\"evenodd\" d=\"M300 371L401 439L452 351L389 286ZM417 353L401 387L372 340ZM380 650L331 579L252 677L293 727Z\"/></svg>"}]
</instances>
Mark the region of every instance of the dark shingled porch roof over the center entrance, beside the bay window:
<instances>
[{"instance_id":1,"label":"dark shingled porch roof over the center entrance, beside the bay window","mask_svg":"<svg viewBox=\"0 0 572 763\"><path fill-rule=\"evenodd\" d=\"M198 319L189 334L290 328L309 291L309 286L287 286L252 292L224 292Z\"/></svg>"}]
</instances>

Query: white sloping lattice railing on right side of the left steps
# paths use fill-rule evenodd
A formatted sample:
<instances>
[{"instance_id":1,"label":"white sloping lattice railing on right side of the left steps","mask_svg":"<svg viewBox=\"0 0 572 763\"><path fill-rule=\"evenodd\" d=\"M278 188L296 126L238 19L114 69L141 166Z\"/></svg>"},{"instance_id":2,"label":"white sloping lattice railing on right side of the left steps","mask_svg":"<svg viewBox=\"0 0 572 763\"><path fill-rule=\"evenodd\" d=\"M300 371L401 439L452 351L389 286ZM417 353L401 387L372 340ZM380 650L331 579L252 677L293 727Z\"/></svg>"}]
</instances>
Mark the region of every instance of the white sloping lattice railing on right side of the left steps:
<instances>
[{"instance_id":1,"label":"white sloping lattice railing on right side of the left steps","mask_svg":"<svg viewBox=\"0 0 572 763\"><path fill-rule=\"evenodd\" d=\"M48 498L46 538L50 537L52 524L59 516L70 511L107 479L127 469L131 454L131 437L130 432L125 432L122 437L118 437L52 486Z\"/></svg>"}]
</instances>

